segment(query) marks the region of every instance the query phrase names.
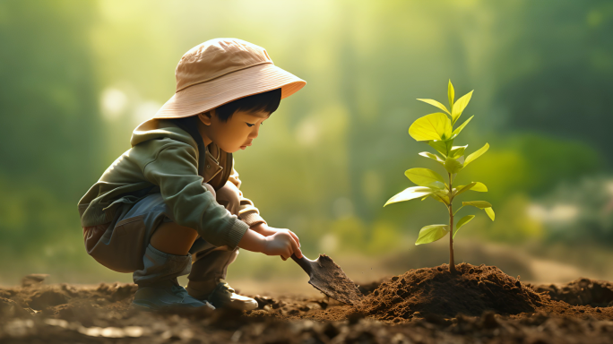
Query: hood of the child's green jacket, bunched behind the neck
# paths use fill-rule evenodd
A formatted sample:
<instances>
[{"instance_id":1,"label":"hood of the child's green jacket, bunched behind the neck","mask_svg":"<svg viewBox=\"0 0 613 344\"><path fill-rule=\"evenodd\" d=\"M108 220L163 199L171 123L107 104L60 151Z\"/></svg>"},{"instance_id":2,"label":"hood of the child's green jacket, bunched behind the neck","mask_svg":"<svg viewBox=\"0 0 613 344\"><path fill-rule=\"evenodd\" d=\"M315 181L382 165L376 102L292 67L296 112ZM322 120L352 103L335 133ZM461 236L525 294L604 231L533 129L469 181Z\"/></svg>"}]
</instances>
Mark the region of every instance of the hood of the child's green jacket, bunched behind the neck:
<instances>
[{"instance_id":1,"label":"hood of the child's green jacket, bunched behind the neck","mask_svg":"<svg viewBox=\"0 0 613 344\"><path fill-rule=\"evenodd\" d=\"M179 142L185 142L194 147L197 146L194 138L192 138L192 135L179 128L178 125L172 122L172 120L163 118L150 119L138 125L136 129L134 129L134 132L132 132L130 145L134 147L142 142L159 140L162 138L169 138Z\"/></svg>"}]
</instances>

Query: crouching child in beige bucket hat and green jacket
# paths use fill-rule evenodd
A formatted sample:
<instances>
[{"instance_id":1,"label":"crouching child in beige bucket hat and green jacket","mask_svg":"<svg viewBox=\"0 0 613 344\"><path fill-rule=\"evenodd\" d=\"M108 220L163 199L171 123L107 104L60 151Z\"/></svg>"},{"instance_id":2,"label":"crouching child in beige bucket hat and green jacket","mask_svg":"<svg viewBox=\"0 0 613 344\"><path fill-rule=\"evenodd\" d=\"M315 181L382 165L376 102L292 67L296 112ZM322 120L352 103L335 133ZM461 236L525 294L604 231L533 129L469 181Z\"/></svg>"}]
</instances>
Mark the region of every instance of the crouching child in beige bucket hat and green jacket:
<instances>
[{"instance_id":1,"label":"crouching child in beige bucket hat and green jacket","mask_svg":"<svg viewBox=\"0 0 613 344\"><path fill-rule=\"evenodd\" d=\"M243 197L232 153L251 146L281 99L306 82L241 39L193 47L175 75L175 95L79 202L86 250L134 272L136 308L254 309L225 281L238 247L283 260L302 253L298 236L268 227ZM177 277L186 274L183 288Z\"/></svg>"}]
</instances>

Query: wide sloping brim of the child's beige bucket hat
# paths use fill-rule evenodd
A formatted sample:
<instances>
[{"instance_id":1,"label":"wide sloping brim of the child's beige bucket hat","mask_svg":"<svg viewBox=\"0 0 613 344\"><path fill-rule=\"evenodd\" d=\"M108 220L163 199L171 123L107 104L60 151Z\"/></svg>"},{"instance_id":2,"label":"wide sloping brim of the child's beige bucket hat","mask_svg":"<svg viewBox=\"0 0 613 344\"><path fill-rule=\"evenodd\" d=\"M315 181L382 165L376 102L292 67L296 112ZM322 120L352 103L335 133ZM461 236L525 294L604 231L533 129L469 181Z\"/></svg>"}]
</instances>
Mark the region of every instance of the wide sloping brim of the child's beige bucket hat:
<instances>
[{"instance_id":1,"label":"wide sloping brim of the child's beige bucket hat","mask_svg":"<svg viewBox=\"0 0 613 344\"><path fill-rule=\"evenodd\" d=\"M178 91L151 119L194 116L230 101L269 90L281 89L281 99L285 99L306 84L298 76L274 64L258 64Z\"/></svg>"}]
</instances>

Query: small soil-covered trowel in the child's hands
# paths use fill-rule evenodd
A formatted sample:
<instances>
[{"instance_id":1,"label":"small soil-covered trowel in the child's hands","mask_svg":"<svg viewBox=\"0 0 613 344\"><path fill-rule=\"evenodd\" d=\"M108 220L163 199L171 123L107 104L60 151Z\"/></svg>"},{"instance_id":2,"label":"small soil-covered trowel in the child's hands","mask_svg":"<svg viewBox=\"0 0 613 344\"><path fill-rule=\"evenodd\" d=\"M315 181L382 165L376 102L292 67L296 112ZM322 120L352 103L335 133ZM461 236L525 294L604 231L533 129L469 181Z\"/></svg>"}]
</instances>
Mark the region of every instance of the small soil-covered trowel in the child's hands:
<instances>
[{"instance_id":1,"label":"small soil-covered trowel in the child's hands","mask_svg":"<svg viewBox=\"0 0 613 344\"><path fill-rule=\"evenodd\" d=\"M308 283L326 296L348 305L359 304L362 293L358 286L345 275L340 266L332 262L329 256L319 254L319 258L311 261L304 255L298 259L292 254L291 259L298 262L302 270L307 272L310 278Z\"/></svg>"}]
</instances>

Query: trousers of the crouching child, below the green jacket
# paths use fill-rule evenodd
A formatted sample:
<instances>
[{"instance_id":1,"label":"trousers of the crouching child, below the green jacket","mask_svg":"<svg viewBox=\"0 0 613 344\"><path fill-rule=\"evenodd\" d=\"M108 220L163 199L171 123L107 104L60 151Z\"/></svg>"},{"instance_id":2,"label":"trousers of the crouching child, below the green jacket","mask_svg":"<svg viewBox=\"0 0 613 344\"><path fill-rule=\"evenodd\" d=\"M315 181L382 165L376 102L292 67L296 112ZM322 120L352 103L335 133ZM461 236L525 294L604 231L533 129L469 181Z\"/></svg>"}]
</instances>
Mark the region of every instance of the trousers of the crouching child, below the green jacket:
<instances>
[{"instance_id":1,"label":"trousers of the crouching child, below the green jacket","mask_svg":"<svg viewBox=\"0 0 613 344\"><path fill-rule=\"evenodd\" d=\"M224 186L217 191L216 197L222 197L223 202L220 203L237 215L239 196L235 189ZM86 248L94 259L109 269L134 272L134 283L171 279L189 273L187 289L190 294L206 294L218 280L225 279L229 264L237 257L238 248L229 250L227 246L218 247L198 236L186 256L150 249L153 256L147 257L145 253L151 236L165 222L174 222L172 211L160 193L151 193L139 202L124 204L112 222L86 228ZM163 268L153 268L153 261L161 259L162 255L168 263Z\"/></svg>"}]
</instances>

